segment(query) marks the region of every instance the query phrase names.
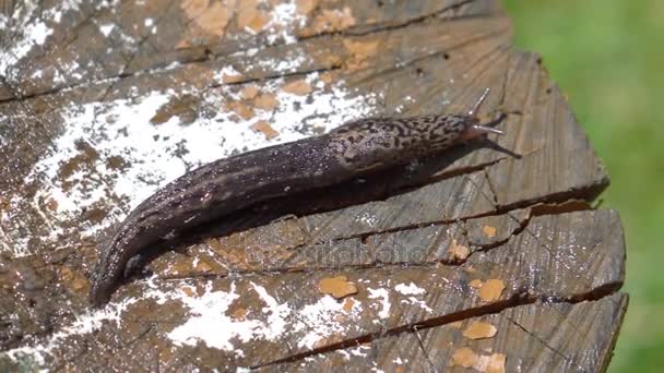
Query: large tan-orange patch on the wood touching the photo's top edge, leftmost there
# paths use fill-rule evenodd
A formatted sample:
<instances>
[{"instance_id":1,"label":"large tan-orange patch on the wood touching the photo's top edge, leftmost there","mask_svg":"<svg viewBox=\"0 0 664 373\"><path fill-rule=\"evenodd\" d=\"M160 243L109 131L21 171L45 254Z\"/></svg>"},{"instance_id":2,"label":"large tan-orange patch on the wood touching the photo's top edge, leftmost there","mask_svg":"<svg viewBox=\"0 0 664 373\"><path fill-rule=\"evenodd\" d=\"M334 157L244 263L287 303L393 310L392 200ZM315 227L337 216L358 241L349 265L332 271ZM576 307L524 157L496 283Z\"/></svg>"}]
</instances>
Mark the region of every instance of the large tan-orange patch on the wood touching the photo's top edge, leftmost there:
<instances>
[{"instance_id":1,"label":"large tan-orange patch on the wood touching the photo's top edge, leftmost there","mask_svg":"<svg viewBox=\"0 0 664 373\"><path fill-rule=\"evenodd\" d=\"M191 20L176 48L208 44L223 38L233 17L237 0L185 0L180 3L185 16Z\"/></svg>"}]
</instances>

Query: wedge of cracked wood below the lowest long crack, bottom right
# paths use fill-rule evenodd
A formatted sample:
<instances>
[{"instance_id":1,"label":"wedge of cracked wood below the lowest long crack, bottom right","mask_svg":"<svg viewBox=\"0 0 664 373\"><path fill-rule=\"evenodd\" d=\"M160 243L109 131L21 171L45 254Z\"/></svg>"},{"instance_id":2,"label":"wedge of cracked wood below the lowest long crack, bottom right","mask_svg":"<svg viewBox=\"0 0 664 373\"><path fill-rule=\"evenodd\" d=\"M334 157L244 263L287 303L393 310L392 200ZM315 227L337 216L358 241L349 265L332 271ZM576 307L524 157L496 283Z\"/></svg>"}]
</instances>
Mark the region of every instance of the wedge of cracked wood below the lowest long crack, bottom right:
<instances>
[{"instance_id":1,"label":"wedge of cracked wood below the lowest long crack, bottom right","mask_svg":"<svg viewBox=\"0 0 664 373\"><path fill-rule=\"evenodd\" d=\"M460 365L462 362L474 364L479 371L488 371L489 362L496 363L505 358L502 366L506 372L548 372L552 369L595 372L607 364L606 359L610 357L612 344L618 333L615 325L620 324L626 308L627 296L620 293L573 304L519 305L497 314L435 326L405 336L386 336L295 362L269 365L259 371L467 371ZM486 339L465 337L463 333L475 322L495 326L496 336ZM603 344L595 345L597 340ZM454 353L464 348L470 349L471 353L466 353L466 359L455 361Z\"/></svg>"}]
</instances>

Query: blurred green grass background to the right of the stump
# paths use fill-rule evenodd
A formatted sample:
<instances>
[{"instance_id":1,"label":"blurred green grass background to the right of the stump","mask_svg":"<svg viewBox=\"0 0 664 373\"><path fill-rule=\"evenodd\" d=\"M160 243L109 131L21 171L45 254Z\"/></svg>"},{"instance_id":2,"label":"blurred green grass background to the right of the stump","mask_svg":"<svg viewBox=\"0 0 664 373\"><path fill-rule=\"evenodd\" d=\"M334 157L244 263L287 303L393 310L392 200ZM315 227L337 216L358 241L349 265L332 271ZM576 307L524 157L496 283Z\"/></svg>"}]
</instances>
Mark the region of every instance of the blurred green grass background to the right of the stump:
<instances>
[{"instance_id":1,"label":"blurred green grass background to the right of the stump","mask_svg":"<svg viewBox=\"0 0 664 373\"><path fill-rule=\"evenodd\" d=\"M630 304L609 372L664 372L664 0L506 0L612 178Z\"/></svg>"}]
</instances>

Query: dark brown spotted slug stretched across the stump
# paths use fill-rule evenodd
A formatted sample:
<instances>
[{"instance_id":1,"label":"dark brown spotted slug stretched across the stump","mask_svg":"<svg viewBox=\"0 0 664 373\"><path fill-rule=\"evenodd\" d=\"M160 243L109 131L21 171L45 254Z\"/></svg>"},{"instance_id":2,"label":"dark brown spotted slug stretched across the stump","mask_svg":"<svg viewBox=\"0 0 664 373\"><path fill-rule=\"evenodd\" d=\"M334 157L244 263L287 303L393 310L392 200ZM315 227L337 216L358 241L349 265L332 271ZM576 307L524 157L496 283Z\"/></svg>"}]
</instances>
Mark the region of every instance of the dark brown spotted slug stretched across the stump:
<instances>
[{"instance_id":1,"label":"dark brown spotted slug stretched across the stump","mask_svg":"<svg viewBox=\"0 0 664 373\"><path fill-rule=\"evenodd\" d=\"M500 118L475 117L488 89L467 115L371 118L327 134L206 164L165 185L135 207L105 245L90 292L102 306L119 286L127 263L149 246L270 198L334 185L402 165L486 133Z\"/></svg>"}]
</instances>

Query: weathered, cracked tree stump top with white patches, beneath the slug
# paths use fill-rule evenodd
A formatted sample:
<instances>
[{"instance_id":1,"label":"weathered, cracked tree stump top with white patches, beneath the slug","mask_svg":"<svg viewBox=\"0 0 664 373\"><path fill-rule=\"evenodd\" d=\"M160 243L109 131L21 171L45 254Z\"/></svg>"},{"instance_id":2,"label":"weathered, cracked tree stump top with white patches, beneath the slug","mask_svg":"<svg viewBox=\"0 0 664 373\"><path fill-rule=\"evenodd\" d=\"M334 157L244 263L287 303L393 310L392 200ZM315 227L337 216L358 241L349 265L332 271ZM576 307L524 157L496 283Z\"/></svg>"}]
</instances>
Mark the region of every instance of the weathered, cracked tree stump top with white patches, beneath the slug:
<instances>
[{"instance_id":1,"label":"weathered, cracked tree stump top with white patches, beneath the slug","mask_svg":"<svg viewBox=\"0 0 664 373\"><path fill-rule=\"evenodd\" d=\"M590 204L608 176L498 1L0 12L0 370L606 369L627 309L620 218ZM216 221L90 309L99 243L186 170L486 87L507 135Z\"/></svg>"}]
</instances>

